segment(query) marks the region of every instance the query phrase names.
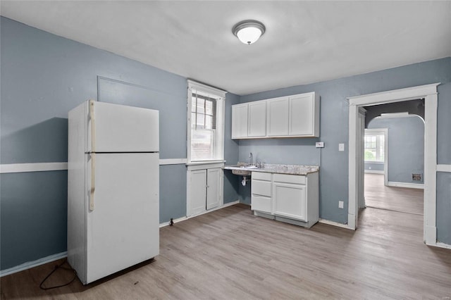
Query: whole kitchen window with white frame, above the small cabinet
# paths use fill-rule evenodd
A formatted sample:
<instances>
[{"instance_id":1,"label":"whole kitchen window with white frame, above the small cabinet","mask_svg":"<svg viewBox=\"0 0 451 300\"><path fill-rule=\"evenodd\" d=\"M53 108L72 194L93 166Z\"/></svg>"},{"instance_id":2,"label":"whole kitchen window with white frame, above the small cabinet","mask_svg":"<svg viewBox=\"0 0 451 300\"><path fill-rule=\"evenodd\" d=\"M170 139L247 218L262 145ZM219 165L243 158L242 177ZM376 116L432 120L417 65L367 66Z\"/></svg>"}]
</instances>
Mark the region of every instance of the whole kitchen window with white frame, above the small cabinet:
<instances>
[{"instance_id":1,"label":"whole kitchen window with white frame, above the small cabinet","mask_svg":"<svg viewBox=\"0 0 451 300\"><path fill-rule=\"evenodd\" d=\"M226 93L188 80L188 162L224 159Z\"/></svg>"}]
</instances>

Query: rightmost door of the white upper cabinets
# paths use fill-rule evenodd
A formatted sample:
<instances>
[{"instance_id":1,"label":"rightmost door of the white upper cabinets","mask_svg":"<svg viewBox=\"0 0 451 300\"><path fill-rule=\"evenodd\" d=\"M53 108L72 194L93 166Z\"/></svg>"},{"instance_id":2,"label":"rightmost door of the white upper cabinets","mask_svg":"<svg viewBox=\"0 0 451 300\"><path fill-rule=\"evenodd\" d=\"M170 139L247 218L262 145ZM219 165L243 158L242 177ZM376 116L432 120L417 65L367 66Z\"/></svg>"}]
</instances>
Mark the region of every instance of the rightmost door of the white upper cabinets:
<instances>
[{"instance_id":1,"label":"rightmost door of the white upper cabinets","mask_svg":"<svg viewBox=\"0 0 451 300\"><path fill-rule=\"evenodd\" d=\"M290 96L289 135L314 136L314 96Z\"/></svg>"}]
</instances>

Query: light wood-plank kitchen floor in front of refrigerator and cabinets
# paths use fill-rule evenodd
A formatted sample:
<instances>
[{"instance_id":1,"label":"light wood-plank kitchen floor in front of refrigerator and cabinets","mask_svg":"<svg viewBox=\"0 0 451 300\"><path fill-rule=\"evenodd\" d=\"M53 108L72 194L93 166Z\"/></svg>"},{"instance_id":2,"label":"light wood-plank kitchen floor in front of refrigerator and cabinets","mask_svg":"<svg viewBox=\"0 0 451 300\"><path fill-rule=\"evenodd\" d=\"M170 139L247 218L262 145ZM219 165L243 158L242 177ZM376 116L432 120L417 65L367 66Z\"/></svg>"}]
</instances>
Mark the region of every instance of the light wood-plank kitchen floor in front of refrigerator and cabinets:
<instances>
[{"instance_id":1,"label":"light wood-plank kitchen floor in front of refrigerator and cabinets","mask_svg":"<svg viewBox=\"0 0 451 300\"><path fill-rule=\"evenodd\" d=\"M160 255L127 272L45 292L48 263L2 277L1 299L450 299L451 250L425 246L422 224L366 208L357 231L306 229L238 204L161 228Z\"/></svg>"}]
</instances>

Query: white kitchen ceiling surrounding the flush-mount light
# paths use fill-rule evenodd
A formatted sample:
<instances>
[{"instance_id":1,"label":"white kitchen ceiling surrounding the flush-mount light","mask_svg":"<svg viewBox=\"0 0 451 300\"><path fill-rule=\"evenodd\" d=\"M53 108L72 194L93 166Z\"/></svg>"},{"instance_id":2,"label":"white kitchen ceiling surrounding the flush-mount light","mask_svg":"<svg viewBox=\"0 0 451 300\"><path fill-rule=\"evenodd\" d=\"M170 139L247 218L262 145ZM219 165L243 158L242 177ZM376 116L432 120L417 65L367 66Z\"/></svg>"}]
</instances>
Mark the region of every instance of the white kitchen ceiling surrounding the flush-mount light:
<instances>
[{"instance_id":1,"label":"white kitchen ceiling surrounding the flush-mount light","mask_svg":"<svg viewBox=\"0 0 451 300\"><path fill-rule=\"evenodd\" d=\"M1 15L235 94L451 56L451 1L1 1ZM241 20L266 33L252 45Z\"/></svg>"}]
</instances>

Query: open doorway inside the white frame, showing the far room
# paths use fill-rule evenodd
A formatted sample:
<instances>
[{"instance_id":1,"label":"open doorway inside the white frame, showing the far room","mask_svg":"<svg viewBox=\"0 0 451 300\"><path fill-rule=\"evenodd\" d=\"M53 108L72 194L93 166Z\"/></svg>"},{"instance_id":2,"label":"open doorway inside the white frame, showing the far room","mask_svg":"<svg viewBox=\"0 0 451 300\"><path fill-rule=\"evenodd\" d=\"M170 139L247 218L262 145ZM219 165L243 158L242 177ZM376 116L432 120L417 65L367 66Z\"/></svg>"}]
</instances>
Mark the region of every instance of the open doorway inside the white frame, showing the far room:
<instances>
[{"instance_id":1,"label":"open doorway inside the white frame, showing the far room","mask_svg":"<svg viewBox=\"0 0 451 300\"><path fill-rule=\"evenodd\" d=\"M365 106L365 113L365 206L423 215L424 99Z\"/></svg>"}]
</instances>

